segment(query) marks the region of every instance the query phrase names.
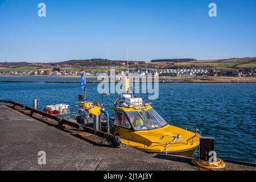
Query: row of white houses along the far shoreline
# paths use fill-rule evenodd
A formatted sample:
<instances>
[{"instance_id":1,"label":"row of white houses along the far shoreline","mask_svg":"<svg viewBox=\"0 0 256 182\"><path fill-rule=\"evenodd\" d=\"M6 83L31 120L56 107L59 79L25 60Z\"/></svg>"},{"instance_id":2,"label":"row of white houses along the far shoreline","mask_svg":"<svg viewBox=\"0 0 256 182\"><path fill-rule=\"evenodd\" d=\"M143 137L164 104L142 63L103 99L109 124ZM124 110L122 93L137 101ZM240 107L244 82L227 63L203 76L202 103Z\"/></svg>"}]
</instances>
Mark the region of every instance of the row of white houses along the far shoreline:
<instances>
[{"instance_id":1,"label":"row of white houses along the far shoreline","mask_svg":"<svg viewBox=\"0 0 256 182\"><path fill-rule=\"evenodd\" d=\"M16 76L79 76L82 71L5 71L0 72L0 75L16 75ZM115 71L115 75L125 75L127 70ZM130 69L129 74L132 76L172 76L172 77L188 77L188 76L238 76L248 77L256 76L256 71L230 71L226 69L206 69L206 68L193 68L193 69ZM103 76L113 75L110 71L87 71L86 76Z\"/></svg>"}]
</instances>

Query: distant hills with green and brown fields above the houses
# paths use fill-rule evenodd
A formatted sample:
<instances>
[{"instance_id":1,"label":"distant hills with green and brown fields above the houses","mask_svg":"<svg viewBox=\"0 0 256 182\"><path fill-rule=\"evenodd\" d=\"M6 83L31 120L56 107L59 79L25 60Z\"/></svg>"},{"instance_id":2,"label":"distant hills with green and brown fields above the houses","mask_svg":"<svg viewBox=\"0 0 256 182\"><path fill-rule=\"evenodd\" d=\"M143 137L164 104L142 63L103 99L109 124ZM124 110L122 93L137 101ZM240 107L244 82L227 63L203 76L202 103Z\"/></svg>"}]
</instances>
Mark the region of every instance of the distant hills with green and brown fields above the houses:
<instances>
[{"instance_id":1,"label":"distant hills with green and brown fields above the houses","mask_svg":"<svg viewBox=\"0 0 256 182\"><path fill-rule=\"evenodd\" d=\"M20 68L22 67L22 68ZM13 62L0 63L0 70L11 68L12 70L20 69L80 69L80 68L97 68L97 67L126 67L124 60L109 60L109 59L84 59L84 60L68 60L58 63L28 63ZM218 60L196 60L196 59L158 59L145 61L129 61L130 68L150 68L150 69L165 69L165 68L229 68L229 69L243 69L256 68L256 57L242 57ZM33 68L34 69L34 68Z\"/></svg>"}]
</instances>

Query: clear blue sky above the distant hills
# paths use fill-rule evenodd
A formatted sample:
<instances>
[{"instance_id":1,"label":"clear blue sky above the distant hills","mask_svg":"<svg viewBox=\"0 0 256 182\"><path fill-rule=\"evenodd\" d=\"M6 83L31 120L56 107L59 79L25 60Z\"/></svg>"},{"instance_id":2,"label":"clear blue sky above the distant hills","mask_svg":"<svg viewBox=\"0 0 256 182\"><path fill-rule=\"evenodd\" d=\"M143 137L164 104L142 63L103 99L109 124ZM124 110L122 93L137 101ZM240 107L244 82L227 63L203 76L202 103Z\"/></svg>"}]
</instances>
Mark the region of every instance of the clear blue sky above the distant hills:
<instances>
[{"instance_id":1,"label":"clear blue sky above the distant hills","mask_svg":"<svg viewBox=\"0 0 256 182\"><path fill-rule=\"evenodd\" d=\"M255 12L255 0L0 0L0 62L256 56Z\"/></svg>"}]
</instances>

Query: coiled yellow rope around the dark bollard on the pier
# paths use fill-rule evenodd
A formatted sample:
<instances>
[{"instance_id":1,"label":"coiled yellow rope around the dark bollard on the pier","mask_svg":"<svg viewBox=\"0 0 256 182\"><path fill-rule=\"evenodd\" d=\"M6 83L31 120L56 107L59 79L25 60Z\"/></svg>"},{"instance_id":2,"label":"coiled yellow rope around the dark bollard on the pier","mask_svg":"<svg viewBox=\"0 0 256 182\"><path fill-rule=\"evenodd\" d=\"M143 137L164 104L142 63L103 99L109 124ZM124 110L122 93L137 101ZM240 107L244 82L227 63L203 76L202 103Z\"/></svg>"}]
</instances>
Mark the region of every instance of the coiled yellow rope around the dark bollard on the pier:
<instances>
[{"instance_id":1,"label":"coiled yellow rope around the dark bollard on the pier","mask_svg":"<svg viewBox=\"0 0 256 182\"><path fill-rule=\"evenodd\" d=\"M192 160L192 163L198 167L207 168L207 169L210 169L213 171L216 169L224 168L226 166L225 162L223 160L221 160L220 158L216 158L216 163L212 163L212 164L206 162L205 160L200 160L200 159L194 158Z\"/></svg>"}]
</instances>

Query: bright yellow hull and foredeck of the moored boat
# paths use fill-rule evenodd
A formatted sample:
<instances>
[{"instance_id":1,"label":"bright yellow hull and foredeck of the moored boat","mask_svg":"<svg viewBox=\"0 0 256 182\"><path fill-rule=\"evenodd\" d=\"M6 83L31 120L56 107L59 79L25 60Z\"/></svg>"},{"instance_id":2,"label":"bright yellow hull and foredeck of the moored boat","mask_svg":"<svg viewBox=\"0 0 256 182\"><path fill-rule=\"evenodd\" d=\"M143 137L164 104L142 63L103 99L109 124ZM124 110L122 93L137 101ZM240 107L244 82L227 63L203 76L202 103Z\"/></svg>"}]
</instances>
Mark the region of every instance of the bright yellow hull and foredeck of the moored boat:
<instances>
[{"instance_id":1,"label":"bright yellow hull and foredeck of the moored boat","mask_svg":"<svg viewBox=\"0 0 256 182\"><path fill-rule=\"evenodd\" d=\"M129 147L148 153L181 156L193 156L199 147L201 136L171 125L151 131L129 131L121 128L117 131L115 134L121 134L121 142ZM174 140L177 134L182 137Z\"/></svg>"}]
</instances>

